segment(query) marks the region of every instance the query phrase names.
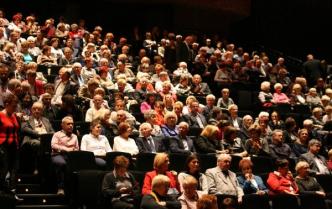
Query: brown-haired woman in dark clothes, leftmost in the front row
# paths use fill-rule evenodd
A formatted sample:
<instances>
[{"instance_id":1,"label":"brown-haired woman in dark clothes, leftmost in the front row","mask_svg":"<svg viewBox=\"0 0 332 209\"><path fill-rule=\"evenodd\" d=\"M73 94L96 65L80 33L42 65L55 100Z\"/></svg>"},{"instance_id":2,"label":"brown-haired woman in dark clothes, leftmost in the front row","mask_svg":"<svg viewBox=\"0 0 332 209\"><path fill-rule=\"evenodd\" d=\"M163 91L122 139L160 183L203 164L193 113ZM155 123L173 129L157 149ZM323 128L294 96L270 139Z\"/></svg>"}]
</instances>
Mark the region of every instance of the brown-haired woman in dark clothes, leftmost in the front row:
<instances>
[{"instance_id":1,"label":"brown-haired woman in dark clothes, leftmost in the front row","mask_svg":"<svg viewBox=\"0 0 332 209\"><path fill-rule=\"evenodd\" d=\"M120 155L113 160L114 170L104 176L102 193L113 209L133 209L138 203L139 184L127 171L129 160Z\"/></svg>"}]
</instances>

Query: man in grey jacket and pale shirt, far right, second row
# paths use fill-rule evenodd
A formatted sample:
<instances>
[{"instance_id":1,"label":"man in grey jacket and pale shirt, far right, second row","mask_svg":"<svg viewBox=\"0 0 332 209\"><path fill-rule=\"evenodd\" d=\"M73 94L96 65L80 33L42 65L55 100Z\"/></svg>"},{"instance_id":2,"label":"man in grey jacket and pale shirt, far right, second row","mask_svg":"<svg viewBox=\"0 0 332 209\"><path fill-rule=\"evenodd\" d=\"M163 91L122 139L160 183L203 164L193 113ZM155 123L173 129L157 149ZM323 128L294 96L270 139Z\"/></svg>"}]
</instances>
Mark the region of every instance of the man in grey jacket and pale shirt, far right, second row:
<instances>
[{"instance_id":1,"label":"man in grey jacket and pale shirt, far right, second row","mask_svg":"<svg viewBox=\"0 0 332 209\"><path fill-rule=\"evenodd\" d=\"M322 143L317 139L312 139L309 141L309 150L300 156L300 160L308 162L310 170L315 174L331 174L327 168L326 159L324 156L319 155Z\"/></svg>"}]
</instances>

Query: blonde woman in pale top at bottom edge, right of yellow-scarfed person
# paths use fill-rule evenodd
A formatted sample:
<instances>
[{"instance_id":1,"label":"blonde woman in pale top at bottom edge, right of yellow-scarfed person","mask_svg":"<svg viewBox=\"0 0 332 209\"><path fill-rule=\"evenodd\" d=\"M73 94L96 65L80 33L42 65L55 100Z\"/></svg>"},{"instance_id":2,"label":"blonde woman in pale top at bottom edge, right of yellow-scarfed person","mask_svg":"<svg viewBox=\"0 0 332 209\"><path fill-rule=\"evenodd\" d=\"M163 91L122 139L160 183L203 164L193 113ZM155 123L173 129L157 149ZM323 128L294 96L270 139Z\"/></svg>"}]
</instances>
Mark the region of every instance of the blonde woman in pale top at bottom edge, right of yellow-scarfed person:
<instances>
[{"instance_id":1,"label":"blonde woman in pale top at bottom edge, right of yellow-scarfed person","mask_svg":"<svg viewBox=\"0 0 332 209\"><path fill-rule=\"evenodd\" d=\"M193 176L187 176L183 182L183 193L178 198L181 209L196 209L197 200L203 195L202 191L197 191L197 180Z\"/></svg>"}]
</instances>

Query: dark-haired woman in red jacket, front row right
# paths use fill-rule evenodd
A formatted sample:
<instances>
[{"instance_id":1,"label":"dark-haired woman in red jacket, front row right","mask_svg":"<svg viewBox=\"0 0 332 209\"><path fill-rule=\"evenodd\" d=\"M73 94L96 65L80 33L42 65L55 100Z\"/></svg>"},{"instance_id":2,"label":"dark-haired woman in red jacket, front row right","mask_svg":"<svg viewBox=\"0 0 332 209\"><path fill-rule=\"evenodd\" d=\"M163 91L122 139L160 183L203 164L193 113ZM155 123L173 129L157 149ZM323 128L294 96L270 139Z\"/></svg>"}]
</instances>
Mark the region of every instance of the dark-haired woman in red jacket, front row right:
<instances>
[{"instance_id":1,"label":"dark-haired woman in red jacket, front row right","mask_svg":"<svg viewBox=\"0 0 332 209\"><path fill-rule=\"evenodd\" d=\"M277 159L277 170L271 172L267 179L267 185L270 189L270 194L289 194L297 195L299 188L289 171L289 163L287 159Z\"/></svg>"}]
</instances>

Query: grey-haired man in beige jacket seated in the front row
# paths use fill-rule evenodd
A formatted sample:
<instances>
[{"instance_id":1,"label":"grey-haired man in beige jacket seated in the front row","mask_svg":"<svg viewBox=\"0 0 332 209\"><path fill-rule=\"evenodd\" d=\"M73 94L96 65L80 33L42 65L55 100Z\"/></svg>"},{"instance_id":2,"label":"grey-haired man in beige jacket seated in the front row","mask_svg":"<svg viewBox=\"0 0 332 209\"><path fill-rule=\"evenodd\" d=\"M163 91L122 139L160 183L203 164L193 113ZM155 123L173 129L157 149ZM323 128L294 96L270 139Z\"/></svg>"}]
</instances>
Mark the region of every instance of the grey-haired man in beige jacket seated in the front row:
<instances>
[{"instance_id":1,"label":"grey-haired man in beige jacket seated in the front row","mask_svg":"<svg viewBox=\"0 0 332 209\"><path fill-rule=\"evenodd\" d=\"M220 154L217 166L206 170L208 191L209 194L234 195L240 203L244 193L236 178L236 174L229 170L231 160L232 157L229 154Z\"/></svg>"}]
</instances>

